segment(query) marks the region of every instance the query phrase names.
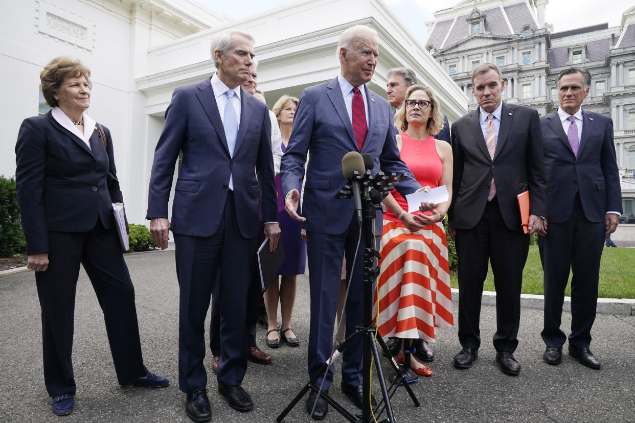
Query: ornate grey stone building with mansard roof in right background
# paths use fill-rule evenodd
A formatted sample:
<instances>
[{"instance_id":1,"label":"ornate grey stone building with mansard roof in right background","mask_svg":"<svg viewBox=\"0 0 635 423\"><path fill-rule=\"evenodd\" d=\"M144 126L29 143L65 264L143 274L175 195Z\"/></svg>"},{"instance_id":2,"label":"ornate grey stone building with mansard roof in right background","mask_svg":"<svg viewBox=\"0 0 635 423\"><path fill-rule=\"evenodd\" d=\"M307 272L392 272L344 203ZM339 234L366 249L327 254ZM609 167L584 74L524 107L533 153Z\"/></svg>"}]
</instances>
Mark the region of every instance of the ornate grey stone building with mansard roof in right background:
<instances>
[{"instance_id":1,"label":"ornate grey stone building with mansard roof in right background","mask_svg":"<svg viewBox=\"0 0 635 423\"><path fill-rule=\"evenodd\" d=\"M477 107L472 68L496 63L505 81L503 98L538 110L558 108L556 77L573 65L591 72L583 108L613 119L624 214L617 240L635 243L635 7L608 23L554 32L545 22L549 0L465 0L434 13L425 48ZM631 227L632 225L632 227Z\"/></svg>"}]
</instances>

